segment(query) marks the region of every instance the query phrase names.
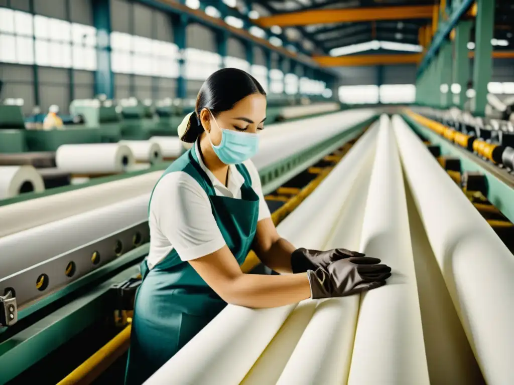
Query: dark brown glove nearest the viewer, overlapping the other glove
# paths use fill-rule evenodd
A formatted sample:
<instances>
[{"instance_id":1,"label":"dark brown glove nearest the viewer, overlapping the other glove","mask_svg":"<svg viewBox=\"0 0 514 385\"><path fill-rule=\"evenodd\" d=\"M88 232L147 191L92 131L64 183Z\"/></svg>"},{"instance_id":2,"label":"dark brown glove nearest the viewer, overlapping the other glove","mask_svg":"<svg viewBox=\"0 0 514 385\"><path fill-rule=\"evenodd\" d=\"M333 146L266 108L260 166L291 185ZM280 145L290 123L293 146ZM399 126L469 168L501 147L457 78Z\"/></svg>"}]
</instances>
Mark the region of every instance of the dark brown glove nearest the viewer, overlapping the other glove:
<instances>
[{"instance_id":1,"label":"dark brown glove nearest the viewer, overlapping the other glove","mask_svg":"<svg viewBox=\"0 0 514 385\"><path fill-rule=\"evenodd\" d=\"M311 298L345 297L383 286L391 267L379 263L377 258L351 257L307 271Z\"/></svg>"}]
</instances>

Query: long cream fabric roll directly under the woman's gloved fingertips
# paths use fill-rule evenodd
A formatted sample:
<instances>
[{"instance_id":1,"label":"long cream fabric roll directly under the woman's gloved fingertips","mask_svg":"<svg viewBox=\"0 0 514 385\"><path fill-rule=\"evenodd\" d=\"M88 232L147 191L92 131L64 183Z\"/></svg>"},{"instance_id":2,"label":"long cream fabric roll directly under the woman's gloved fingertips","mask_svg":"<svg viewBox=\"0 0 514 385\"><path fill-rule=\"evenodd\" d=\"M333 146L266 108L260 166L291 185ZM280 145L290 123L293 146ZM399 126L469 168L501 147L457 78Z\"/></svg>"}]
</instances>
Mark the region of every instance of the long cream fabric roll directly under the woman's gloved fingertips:
<instances>
[{"instance_id":1,"label":"long cream fabric roll directly under the woman's gloved fingertips","mask_svg":"<svg viewBox=\"0 0 514 385\"><path fill-rule=\"evenodd\" d=\"M391 266L393 276L361 295L348 385L428 385L405 188L387 115L377 142L360 250Z\"/></svg>"}]
</instances>

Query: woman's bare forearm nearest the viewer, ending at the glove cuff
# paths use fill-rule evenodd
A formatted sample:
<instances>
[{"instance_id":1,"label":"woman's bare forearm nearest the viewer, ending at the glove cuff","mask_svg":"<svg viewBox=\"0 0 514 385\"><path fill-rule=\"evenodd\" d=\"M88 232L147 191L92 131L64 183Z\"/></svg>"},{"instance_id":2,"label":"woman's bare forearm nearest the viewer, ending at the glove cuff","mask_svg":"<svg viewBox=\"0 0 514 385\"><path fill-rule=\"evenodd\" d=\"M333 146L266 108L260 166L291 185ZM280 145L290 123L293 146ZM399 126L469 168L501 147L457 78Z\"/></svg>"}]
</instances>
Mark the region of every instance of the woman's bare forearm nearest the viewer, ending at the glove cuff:
<instances>
[{"instance_id":1,"label":"woman's bare forearm nearest the viewer, ending at the glove cuff","mask_svg":"<svg viewBox=\"0 0 514 385\"><path fill-rule=\"evenodd\" d=\"M278 307L310 298L306 273L287 275L242 274L227 287L224 300L238 306Z\"/></svg>"}]
</instances>

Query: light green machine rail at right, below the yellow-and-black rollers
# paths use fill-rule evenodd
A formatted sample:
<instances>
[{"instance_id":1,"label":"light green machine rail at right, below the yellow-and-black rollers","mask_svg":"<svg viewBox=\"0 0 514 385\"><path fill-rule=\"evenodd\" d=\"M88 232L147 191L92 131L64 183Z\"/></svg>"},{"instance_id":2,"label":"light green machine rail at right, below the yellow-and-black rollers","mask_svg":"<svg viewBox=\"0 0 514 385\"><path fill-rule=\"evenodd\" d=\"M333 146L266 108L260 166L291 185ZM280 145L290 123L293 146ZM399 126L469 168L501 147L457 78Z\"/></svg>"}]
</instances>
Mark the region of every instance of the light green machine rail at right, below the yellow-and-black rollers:
<instances>
[{"instance_id":1,"label":"light green machine rail at right, below the yellow-and-black rollers","mask_svg":"<svg viewBox=\"0 0 514 385\"><path fill-rule=\"evenodd\" d=\"M403 115L403 119L421 137L427 138L432 144L439 145L442 155L459 158L461 160L461 171L483 174L487 181L487 199L511 222L514 222L514 184L509 185L499 179L500 169L496 169L496 166L483 161L468 150L455 146L429 128L413 121L407 115Z\"/></svg>"}]
</instances>

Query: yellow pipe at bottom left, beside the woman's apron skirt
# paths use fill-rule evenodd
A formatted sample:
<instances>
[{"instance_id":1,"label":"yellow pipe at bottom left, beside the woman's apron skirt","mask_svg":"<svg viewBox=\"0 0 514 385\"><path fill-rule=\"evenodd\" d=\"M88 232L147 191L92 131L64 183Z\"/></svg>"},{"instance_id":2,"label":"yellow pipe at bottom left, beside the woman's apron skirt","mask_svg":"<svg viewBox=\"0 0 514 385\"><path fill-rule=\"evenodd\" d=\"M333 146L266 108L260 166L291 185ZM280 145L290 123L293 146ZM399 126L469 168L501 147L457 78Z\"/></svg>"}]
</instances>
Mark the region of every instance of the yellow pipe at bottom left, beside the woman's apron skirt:
<instances>
[{"instance_id":1,"label":"yellow pipe at bottom left, beside the woman's apron skirt","mask_svg":"<svg viewBox=\"0 0 514 385\"><path fill-rule=\"evenodd\" d=\"M109 365L127 351L130 344L130 332L131 325L128 325L57 385L86 385L93 382Z\"/></svg>"}]
</instances>

